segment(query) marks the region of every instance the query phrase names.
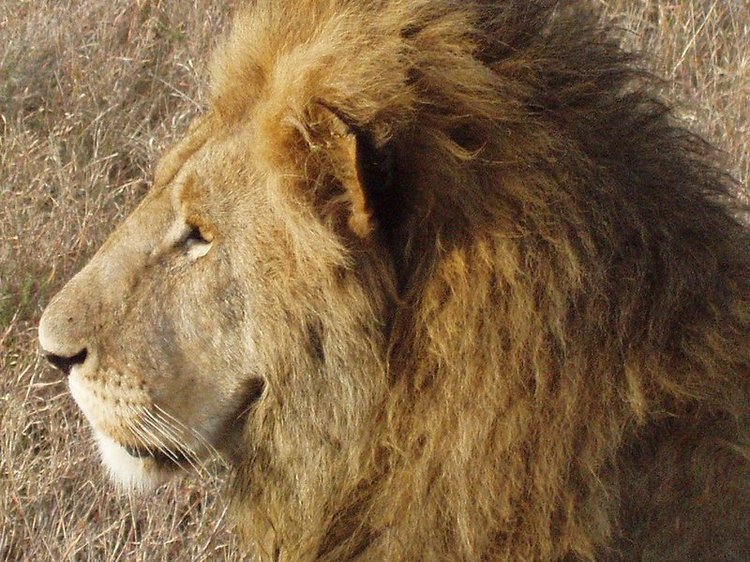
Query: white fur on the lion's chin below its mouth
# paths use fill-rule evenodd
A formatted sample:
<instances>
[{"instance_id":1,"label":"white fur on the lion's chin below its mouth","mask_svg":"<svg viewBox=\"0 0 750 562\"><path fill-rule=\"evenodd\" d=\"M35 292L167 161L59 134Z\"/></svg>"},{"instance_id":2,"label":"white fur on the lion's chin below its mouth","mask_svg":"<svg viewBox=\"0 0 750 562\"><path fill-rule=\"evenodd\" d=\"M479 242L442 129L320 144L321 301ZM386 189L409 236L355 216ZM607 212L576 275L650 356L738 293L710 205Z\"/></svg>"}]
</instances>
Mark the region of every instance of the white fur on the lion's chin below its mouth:
<instances>
[{"instance_id":1,"label":"white fur on the lion's chin below its mouth","mask_svg":"<svg viewBox=\"0 0 750 562\"><path fill-rule=\"evenodd\" d=\"M171 471L159 468L153 460L131 456L115 440L96 430L94 437L110 478L123 492L146 492L172 476Z\"/></svg>"}]
</instances>

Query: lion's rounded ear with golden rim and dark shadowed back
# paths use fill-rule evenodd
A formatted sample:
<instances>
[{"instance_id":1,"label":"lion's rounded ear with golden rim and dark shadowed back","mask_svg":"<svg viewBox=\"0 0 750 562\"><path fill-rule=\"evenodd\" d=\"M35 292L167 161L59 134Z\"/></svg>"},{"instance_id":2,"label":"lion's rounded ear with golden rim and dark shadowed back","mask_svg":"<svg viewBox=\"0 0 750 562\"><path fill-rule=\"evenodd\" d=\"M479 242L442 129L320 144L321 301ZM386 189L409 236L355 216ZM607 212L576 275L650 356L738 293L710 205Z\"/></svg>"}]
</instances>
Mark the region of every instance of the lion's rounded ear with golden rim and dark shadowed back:
<instances>
[{"instance_id":1,"label":"lion's rounded ear with golden rim and dark shadowed back","mask_svg":"<svg viewBox=\"0 0 750 562\"><path fill-rule=\"evenodd\" d=\"M346 190L351 214L349 228L368 238L387 212L394 177L394 156L389 146L378 146L374 136L341 112L321 105L331 135L331 160L338 181Z\"/></svg>"}]
</instances>

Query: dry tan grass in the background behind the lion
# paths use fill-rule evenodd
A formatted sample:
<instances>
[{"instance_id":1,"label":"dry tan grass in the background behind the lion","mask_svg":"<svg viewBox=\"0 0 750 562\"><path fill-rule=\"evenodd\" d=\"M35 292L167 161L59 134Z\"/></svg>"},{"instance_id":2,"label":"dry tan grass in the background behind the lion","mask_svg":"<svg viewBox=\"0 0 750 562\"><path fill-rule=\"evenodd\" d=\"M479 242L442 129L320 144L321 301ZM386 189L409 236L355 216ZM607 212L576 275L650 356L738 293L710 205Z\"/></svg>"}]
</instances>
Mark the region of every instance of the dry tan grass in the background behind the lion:
<instances>
[{"instance_id":1,"label":"dry tan grass in the background behind the lion","mask_svg":"<svg viewBox=\"0 0 750 562\"><path fill-rule=\"evenodd\" d=\"M672 80L694 127L750 177L750 8L601 0ZM0 12L0 561L239 560L218 488L118 497L36 322L148 188L199 111L218 0L4 0Z\"/></svg>"}]
</instances>

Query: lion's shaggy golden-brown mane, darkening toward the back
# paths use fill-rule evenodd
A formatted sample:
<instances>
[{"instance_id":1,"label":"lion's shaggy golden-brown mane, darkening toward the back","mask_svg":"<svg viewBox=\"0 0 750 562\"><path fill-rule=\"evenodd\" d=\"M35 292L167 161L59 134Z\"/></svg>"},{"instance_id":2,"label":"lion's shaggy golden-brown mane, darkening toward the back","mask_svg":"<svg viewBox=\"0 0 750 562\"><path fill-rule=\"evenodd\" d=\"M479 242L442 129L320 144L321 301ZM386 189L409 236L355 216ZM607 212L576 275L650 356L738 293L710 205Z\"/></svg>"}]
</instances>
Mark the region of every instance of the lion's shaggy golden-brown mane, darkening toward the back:
<instances>
[{"instance_id":1,"label":"lion's shaggy golden-brown mane, darkening toward the back","mask_svg":"<svg viewBox=\"0 0 750 562\"><path fill-rule=\"evenodd\" d=\"M284 363L287 394L249 423L233 493L261 552L687 560L743 532L747 548L737 186L592 4L257 0L213 75L214 111L255 120L279 205L344 204L314 105L389 162L374 235L327 223L344 273L290 316L315 337L279 336L319 376Z\"/></svg>"}]
</instances>

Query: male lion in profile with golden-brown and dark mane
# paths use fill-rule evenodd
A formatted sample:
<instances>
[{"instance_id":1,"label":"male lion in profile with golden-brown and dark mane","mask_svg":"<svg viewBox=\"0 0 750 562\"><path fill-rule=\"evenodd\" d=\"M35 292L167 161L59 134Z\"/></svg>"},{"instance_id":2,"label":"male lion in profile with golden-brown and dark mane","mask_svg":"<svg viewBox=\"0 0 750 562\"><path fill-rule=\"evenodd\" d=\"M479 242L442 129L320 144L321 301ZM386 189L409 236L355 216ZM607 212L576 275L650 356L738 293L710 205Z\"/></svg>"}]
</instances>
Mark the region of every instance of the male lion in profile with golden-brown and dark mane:
<instances>
[{"instance_id":1,"label":"male lion in profile with golden-brown and dark mane","mask_svg":"<svg viewBox=\"0 0 750 562\"><path fill-rule=\"evenodd\" d=\"M39 335L264 560L750 560L736 185L589 2L255 0Z\"/></svg>"}]
</instances>

